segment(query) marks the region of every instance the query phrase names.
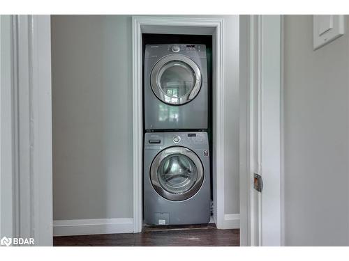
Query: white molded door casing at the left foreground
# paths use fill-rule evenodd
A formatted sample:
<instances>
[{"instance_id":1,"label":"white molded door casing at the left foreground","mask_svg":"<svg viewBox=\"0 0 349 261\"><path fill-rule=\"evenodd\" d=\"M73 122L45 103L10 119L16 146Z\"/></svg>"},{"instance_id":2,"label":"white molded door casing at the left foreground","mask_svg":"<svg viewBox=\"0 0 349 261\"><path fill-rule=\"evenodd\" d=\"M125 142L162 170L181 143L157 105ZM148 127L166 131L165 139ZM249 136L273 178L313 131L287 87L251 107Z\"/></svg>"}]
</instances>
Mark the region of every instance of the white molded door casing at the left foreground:
<instances>
[{"instance_id":1,"label":"white molded door casing at the left foreground","mask_svg":"<svg viewBox=\"0 0 349 261\"><path fill-rule=\"evenodd\" d=\"M50 15L11 15L13 236L52 246Z\"/></svg>"}]
</instances>

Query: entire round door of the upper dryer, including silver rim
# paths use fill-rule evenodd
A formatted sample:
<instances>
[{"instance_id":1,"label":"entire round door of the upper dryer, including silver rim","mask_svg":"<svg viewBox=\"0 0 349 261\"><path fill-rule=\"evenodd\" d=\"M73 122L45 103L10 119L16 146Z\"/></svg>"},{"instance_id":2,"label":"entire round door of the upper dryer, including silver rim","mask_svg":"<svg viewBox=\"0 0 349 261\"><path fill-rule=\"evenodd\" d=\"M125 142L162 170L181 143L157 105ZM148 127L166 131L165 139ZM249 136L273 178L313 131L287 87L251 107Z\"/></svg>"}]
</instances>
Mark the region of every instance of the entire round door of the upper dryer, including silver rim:
<instances>
[{"instance_id":1,"label":"entire round door of the upper dryer, including silver rim","mask_svg":"<svg viewBox=\"0 0 349 261\"><path fill-rule=\"evenodd\" d=\"M170 54L151 70L151 89L158 99L171 105L190 102L201 88L201 72L191 58Z\"/></svg>"}]
</instances>

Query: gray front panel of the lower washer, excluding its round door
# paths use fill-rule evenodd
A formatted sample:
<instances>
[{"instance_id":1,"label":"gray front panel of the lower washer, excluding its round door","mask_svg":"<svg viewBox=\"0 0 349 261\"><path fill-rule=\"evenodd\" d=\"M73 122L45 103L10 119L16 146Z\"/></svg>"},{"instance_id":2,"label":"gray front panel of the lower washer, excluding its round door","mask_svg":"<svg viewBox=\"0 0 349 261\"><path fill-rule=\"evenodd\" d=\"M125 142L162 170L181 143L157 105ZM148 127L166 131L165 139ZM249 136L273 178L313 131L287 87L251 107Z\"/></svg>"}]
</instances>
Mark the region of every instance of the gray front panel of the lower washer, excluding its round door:
<instances>
[{"instance_id":1,"label":"gray front panel of the lower washer, excluding its round door","mask_svg":"<svg viewBox=\"0 0 349 261\"><path fill-rule=\"evenodd\" d=\"M163 135L163 144L149 144L149 139L153 139L154 135L158 134ZM194 134L195 136L193 136ZM179 139L177 139L177 136ZM184 200L173 201L161 196L151 184L151 164L159 152L177 146L187 148L195 153L202 164L205 175L203 175L200 189L193 196ZM209 143L205 132L146 133L144 135L143 177L145 223L158 225L158 213L168 213L168 224L170 225L208 223L211 202L209 164Z\"/></svg>"}]
</instances>

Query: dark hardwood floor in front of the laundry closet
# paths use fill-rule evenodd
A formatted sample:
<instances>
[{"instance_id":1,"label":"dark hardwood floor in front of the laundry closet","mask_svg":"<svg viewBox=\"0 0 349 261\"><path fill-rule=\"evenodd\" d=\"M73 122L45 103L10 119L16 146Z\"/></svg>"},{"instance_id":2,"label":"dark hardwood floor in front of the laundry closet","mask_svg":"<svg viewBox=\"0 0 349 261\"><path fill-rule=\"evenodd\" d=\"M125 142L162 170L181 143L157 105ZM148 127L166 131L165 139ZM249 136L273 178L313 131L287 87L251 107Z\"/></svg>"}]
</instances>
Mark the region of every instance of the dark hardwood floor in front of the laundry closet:
<instances>
[{"instance_id":1,"label":"dark hardwood floor in front of the laundry closet","mask_svg":"<svg viewBox=\"0 0 349 261\"><path fill-rule=\"evenodd\" d=\"M54 237L54 246L239 246L239 230L204 226L144 226L137 234Z\"/></svg>"}]
</instances>

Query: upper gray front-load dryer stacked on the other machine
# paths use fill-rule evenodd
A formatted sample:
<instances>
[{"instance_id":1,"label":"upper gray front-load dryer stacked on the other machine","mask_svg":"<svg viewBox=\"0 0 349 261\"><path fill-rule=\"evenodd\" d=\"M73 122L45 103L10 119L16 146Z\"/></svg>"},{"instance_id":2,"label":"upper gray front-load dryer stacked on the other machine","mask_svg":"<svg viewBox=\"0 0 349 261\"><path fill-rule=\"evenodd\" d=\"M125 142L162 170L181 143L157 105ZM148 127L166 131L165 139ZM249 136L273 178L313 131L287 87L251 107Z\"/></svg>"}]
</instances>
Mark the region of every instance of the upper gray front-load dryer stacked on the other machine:
<instances>
[{"instance_id":1,"label":"upper gray front-load dryer stacked on the other machine","mask_svg":"<svg viewBox=\"0 0 349 261\"><path fill-rule=\"evenodd\" d=\"M144 127L207 129L205 45L146 45Z\"/></svg>"}]
</instances>

